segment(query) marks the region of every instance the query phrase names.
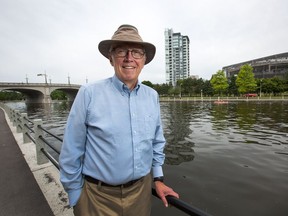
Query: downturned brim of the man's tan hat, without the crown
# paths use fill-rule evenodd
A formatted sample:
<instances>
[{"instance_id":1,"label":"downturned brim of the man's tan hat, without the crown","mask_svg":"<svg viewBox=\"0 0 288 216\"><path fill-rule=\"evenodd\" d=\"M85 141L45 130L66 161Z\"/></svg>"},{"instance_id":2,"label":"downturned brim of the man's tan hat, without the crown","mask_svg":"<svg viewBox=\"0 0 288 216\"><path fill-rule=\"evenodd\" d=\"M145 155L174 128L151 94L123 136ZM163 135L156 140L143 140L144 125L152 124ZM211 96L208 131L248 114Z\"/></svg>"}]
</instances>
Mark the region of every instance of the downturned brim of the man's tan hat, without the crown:
<instances>
[{"instance_id":1,"label":"downturned brim of the man's tan hat, without the crown","mask_svg":"<svg viewBox=\"0 0 288 216\"><path fill-rule=\"evenodd\" d=\"M121 44L121 43L129 43L129 44L140 44L144 47L146 53L146 61L145 64L148 64L152 61L156 53L156 47L147 42L133 42L133 41L122 41L122 40L103 40L99 43L98 49L100 53L109 59L109 50L112 45Z\"/></svg>"}]
</instances>

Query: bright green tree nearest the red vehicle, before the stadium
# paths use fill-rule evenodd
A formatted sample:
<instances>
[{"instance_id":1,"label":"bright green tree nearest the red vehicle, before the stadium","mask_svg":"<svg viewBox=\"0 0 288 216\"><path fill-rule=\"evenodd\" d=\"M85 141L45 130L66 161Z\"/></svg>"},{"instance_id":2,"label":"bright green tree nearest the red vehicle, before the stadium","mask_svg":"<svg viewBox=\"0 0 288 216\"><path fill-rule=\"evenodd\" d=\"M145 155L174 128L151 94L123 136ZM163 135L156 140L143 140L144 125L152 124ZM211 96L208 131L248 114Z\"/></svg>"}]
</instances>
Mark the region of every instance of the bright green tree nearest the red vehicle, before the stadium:
<instances>
[{"instance_id":1,"label":"bright green tree nearest the red vehicle, before the stadium","mask_svg":"<svg viewBox=\"0 0 288 216\"><path fill-rule=\"evenodd\" d=\"M236 85L240 94L254 92L257 88L253 67L245 64L240 68L236 78Z\"/></svg>"}]
</instances>

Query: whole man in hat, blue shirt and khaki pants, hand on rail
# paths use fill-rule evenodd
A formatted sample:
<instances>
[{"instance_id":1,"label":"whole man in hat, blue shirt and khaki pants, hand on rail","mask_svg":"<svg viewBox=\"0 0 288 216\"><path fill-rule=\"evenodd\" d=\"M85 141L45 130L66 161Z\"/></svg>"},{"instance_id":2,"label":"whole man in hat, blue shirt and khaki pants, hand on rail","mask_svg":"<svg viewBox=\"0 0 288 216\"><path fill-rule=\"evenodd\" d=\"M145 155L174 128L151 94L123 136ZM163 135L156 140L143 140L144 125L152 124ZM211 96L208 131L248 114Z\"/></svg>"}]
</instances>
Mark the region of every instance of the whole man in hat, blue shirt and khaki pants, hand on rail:
<instances>
[{"instance_id":1,"label":"whole man in hat, blue shirt and khaki pants, hand on rail","mask_svg":"<svg viewBox=\"0 0 288 216\"><path fill-rule=\"evenodd\" d=\"M158 94L138 80L156 48L131 25L98 48L115 75L80 88L64 133L61 182L76 216L147 216L152 177L165 206L165 196L179 197L163 183Z\"/></svg>"}]
</instances>

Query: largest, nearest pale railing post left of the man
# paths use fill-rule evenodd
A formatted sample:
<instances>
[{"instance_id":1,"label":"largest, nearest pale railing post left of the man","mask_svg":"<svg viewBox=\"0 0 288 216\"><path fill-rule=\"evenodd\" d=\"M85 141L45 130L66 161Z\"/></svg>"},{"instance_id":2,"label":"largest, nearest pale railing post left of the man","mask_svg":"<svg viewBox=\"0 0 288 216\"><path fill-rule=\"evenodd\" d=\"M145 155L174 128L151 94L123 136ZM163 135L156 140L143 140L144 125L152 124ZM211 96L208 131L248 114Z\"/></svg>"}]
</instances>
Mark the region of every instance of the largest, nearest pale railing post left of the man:
<instances>
[{"instance_id":1,"label":"largest, nearest pale railing post left of the man","mask_svg":"<svg viewBox=\"0 0 288 216\"><path fill-rule=\"evenodd\" d=\"M34 132L35 132L37 164L41 165L49 161L48 158L41 151L41 149L45 149L45 143L41 140L41 137L43 137L44 133L43 133L43 130L39 128L39 126L42 126L42 120L35 119L33 122L34 122Z\"/></svg>"}]
</instances>

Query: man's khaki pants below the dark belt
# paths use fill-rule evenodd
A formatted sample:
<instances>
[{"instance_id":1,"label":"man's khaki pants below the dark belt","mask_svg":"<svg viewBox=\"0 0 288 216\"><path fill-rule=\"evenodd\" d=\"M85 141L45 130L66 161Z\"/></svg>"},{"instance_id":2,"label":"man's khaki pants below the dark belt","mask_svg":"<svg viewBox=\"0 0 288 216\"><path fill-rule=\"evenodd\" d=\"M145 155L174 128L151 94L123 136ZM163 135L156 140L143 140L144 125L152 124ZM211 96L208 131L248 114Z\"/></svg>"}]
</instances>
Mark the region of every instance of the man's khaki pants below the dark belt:
<instances>
[{"instance_id":1,"label":"man's khaki pants below the dark belt","mask_svg":"<svg viewBox=\"0 0 288 216\"><path fill-rule=\"evenodd\" d=\"M101 186L85 180L74 215L149 216L151 187L150 174L127 188Z\"/></svg>"}]
</instances>

